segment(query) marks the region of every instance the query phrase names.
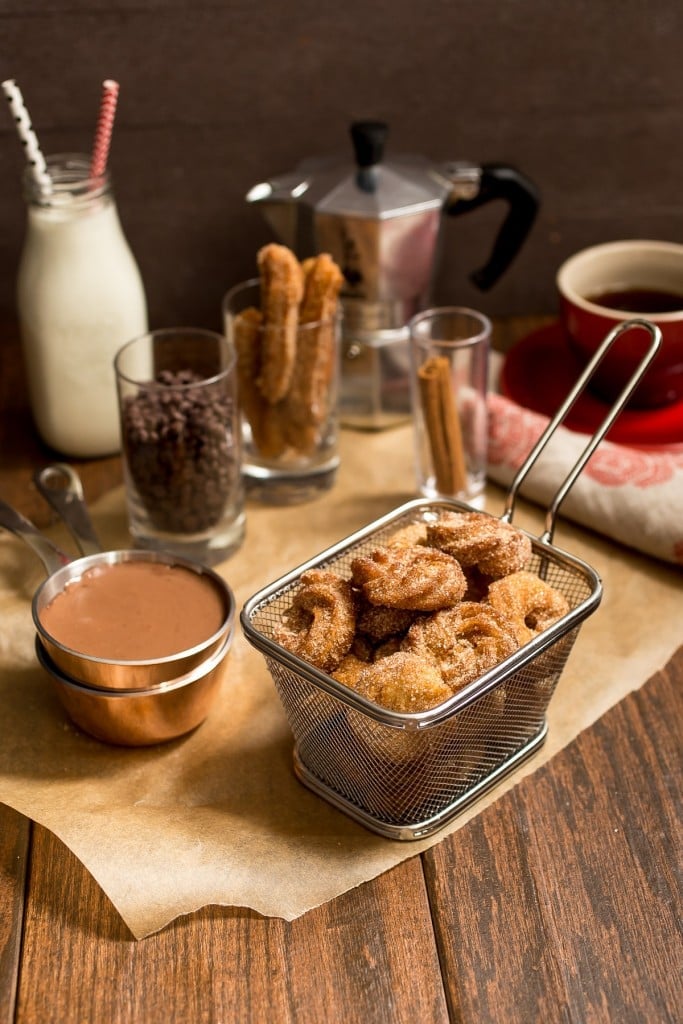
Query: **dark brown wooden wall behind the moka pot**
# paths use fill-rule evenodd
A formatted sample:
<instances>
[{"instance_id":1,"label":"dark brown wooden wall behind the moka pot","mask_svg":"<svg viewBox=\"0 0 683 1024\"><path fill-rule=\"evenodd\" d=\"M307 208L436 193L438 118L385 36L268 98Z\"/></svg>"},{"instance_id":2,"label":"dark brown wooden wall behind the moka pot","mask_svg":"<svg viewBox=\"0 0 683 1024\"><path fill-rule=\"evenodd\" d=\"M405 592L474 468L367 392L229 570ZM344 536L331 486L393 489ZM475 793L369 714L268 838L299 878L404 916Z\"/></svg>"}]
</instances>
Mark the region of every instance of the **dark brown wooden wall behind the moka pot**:
<instances>
[{"instance_id":1,"label":"dark brown wooden wall behind the moka pot","mask_svg":"<svg viewBox=\"0 0 683 1024\"><path fill-rule=\"evenodd\" d=\"M446 225L437 301L552 312L554 273L615 238L683 241L679 0L0 0L2 78L46 153L88 152L121 83L110 167L153 326L220 326L223 292L270 233L244 196L345 152L355 118L392 152L517 165L543 207L486 295L468 273L501 220ZM0 315L13 314L23 156L0 117Z\"/></svg>"}]
</instances>

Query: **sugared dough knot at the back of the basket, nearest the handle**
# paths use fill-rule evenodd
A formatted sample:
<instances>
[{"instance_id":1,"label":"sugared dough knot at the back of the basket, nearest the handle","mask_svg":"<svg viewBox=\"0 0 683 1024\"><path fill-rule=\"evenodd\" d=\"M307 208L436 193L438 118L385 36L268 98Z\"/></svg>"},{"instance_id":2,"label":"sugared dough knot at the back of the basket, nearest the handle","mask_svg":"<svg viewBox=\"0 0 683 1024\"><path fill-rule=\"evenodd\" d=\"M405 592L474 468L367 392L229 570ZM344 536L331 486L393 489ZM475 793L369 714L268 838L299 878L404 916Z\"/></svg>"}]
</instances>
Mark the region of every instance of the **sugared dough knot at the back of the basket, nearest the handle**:
<instances>
[{"instance_id":1,"label":"sugared dough knot at the back of the basket, nearest the handle","mask_svg":"<svg viewBox=\"0 0 683 1024\"><path fill-rule=\"evenodd\" d=\"M531 555L525 534L483 512L444 512L427 525L427 543L495 580L522 569Z\"/></svg>"}]
</instances>

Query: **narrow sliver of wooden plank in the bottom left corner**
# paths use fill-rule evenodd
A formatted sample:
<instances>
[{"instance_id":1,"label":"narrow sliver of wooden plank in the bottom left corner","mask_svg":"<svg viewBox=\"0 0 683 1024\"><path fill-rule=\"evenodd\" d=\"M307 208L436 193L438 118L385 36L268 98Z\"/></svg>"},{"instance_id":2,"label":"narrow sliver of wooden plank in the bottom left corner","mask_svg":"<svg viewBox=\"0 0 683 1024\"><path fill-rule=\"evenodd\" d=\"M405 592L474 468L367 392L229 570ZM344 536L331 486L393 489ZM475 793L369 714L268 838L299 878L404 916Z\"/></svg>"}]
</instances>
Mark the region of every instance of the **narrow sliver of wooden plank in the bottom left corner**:
<instances>
[{"instance_id":1,"label":"narrow sliver of wooden plank in the bottom left corner","mask_svg":"<svg viewBox=\"0 0 683 1024\"><path fill-rule=\"evenodd\" d=\"M0 1024L14 1020L31 823L0 804Z\"/></svg>"}]
</instances>

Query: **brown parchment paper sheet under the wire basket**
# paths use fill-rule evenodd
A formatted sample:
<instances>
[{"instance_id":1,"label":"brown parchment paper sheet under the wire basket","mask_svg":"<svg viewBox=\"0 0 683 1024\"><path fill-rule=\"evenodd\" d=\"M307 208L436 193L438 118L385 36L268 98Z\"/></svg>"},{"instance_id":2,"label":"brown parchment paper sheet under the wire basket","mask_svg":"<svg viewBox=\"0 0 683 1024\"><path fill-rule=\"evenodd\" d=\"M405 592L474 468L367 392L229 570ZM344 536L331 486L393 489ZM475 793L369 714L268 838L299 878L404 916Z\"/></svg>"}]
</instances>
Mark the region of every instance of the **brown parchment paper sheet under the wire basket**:
<instances>
[{"instance_id":1,"label":"brown parchment paper sheet under the wire basket","mask_svg":"<svg viewBox=\"0 0 683 1024\"><path fill-rule=\"evenodd\" d=\"M218 567L238 609L265 584L415 497L410 427L344 432L336 487L292 508L248 508L243 548ZM492 485L486 508L503 509ZM106 547L129 547L121 488L91 510ZM542 532L520 502L515 522ZM62 527L53 538L69 551ZM661 668L681 643L676 568L560 522L555 544L603 578L550 705L548 740L514 775L437 836L377 837L293 775L292 738L262 656L238 627L227 678L190 736L145 750L108 746L65 716L33 649L36 556L0 531L0 800L78 856L136 938L207 904L293 920L440 842L566 745Z\"/></svg>"}]
</instances>

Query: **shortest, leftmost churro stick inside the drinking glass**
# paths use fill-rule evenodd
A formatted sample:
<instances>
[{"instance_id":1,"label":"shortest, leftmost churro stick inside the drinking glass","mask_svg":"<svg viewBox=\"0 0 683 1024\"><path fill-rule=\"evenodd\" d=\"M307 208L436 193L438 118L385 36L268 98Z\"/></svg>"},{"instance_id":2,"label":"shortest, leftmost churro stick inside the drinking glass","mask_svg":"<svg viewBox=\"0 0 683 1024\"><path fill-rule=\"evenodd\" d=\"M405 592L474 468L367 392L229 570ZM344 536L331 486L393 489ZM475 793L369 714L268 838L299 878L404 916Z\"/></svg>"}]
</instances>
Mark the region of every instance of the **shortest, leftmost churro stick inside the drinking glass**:
<instances>
[{"instance_id":1,"label":"shortest, leftmost churro stick inside the drinking glass","mask_svg":"<svg viewBox=\"0 0 683 1024\"><path fill-rule=\"evenodd\" d=\"M271 407L257 386L261 370L262 316L250 306L238 313L233 323L237 354L238 397L240 408L251 427L255 447L273 459L285 451L279 407Z\"/></svg>"}]
</instances>

